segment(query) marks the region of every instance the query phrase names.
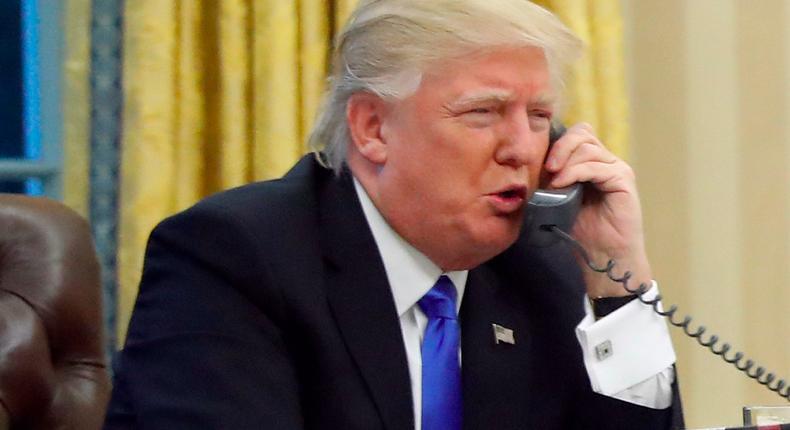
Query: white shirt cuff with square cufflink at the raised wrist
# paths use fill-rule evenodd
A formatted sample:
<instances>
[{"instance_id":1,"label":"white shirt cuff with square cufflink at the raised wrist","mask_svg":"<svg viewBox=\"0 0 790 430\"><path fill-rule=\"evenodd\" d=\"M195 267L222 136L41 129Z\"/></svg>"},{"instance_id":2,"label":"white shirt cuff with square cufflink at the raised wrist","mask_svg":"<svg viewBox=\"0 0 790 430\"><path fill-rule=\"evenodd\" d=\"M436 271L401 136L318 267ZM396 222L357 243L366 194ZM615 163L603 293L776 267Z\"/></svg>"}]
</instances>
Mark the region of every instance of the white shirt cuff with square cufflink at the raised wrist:
<instances>
[{"instance_id":1,"label":"white shirt cuff with square cufflink at the raised wrist","mask_svg":"<svg viewBox=\"0 0 790 430\"><path fill-rule=\"evenodd\" d=\"M657 295L658 285L653 281L643 298L652 300ZM596 321L589 301L585 298L584 302L587 315L576 327L576 336L596 393L614 397L658 376L675 362L667 324L651 306L634 300Z\"/></svg>"}]
</instances>

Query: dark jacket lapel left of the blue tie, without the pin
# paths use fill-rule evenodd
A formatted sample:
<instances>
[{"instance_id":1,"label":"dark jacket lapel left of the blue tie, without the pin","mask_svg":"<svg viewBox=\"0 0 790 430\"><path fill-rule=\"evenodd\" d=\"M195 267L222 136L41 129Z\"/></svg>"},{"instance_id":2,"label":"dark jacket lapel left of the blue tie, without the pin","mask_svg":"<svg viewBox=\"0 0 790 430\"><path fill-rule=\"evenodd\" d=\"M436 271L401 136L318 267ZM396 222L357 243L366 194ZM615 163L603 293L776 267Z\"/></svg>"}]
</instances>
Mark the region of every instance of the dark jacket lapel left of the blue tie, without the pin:
<instances>
[{"instance_id":1,"label":"dark jacket lapel left of the blue tie, without the pin","mask_svg":"<svg viewBox=\"0 0 790 430\"><path fill-rule=\"evenodd\" d=\"M395 302L350 175L321 192L329 305L387 429L414 428L408 362Z\"/></svg>"}]
</instances>

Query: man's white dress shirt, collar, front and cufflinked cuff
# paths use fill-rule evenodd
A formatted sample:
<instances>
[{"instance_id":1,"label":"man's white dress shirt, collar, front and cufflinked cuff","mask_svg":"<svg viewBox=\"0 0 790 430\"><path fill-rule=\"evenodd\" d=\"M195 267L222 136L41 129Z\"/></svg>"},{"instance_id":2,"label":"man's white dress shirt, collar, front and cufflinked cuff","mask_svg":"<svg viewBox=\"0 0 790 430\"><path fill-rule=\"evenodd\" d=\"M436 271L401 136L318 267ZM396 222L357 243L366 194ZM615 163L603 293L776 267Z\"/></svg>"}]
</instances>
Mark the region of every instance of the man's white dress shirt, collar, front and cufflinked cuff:
<instances>
[{"instance_id":1,"label":"man's white dress shirt, collar, front and cufflinked cuff","mask_svg":"<svg viewBox=\"0 0 790 430\"><path fill-rule=\"evenodd\" d=\"M421 345L428 318L417 302L444 274L458 290L458 311L469 272L442 272L441 268L387 224L356 178L354 188L384 262L395 300L409 364L414 428L421 430ZM654 285L648 294L655 297L658 287ZM579 323L576 334L593 390L655 409L669 407L672 404L675 352L664 320L637 301L626 304L598 321L586 300L585 311L587 315ZM607 341L611 345L611 355L601 360L598 358L600 353L596 354L596 347ZM458 353L460 356L461 352Z\"/></svg>"}]
</instances>

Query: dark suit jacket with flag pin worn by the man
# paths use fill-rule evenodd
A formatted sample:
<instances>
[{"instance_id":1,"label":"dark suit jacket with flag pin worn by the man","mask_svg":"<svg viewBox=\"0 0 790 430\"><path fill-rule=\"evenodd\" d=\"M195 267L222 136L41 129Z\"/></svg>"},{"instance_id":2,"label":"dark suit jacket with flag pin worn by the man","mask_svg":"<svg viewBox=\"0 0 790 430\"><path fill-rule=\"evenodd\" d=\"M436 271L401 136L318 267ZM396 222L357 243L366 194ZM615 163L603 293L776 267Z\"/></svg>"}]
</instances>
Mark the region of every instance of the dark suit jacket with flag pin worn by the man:
<instances>
[{"instance_id":1,"label":"dark suit jacket with flag pin worn by the man","mask_svg":"<svg viewBox=\"0 0 790 430\"><path fill-rule=\"evenodd\" d=\"M413 428L386 279L350 175L309 156L283 179L165 220L148 245L105 428ZM670 428L672 410L591 391L574 335L582 295L562 246L519 242L470 271L464 428ZM515 345L495 344L493 323Z\"/></svg>"}]
</instances>

